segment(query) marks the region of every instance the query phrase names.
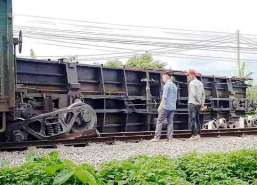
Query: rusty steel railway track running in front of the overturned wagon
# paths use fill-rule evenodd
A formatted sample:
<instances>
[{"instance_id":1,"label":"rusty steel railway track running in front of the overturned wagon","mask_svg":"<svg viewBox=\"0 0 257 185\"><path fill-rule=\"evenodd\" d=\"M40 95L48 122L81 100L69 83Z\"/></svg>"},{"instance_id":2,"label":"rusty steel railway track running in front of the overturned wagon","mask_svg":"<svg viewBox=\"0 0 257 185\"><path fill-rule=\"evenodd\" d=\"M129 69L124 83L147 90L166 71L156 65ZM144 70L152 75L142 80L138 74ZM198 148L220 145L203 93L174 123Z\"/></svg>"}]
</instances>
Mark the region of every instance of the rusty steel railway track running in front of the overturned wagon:
<instances>
[{"instance_id":1,"label":"rusty steel railway track running in front of the overturned wagon","mask_svg":"<svg viewBox=\"0 0 257 185\"><path fill-rule=\"evenodd\" d=\"M218 130L203 130L201 137L219 137L219 136L243 136L257 135L257 127L251 128L231 128ZM18 150L27 149L27 147L58 147L59 145L83 146L88 143L108 143L115 141L137 142L140 140L149 140L154 136L153 131L146 132L121 132L121 133L101 133L99 137L81 137L73 139L55 139L38 140L23 142L5 142L0 143L0 150ZM161 138L165 138L166 131L162 132ZM173 137L177 139L187 139L191 136L190 130L174 131Z\"/></svg>"}]
</instances>

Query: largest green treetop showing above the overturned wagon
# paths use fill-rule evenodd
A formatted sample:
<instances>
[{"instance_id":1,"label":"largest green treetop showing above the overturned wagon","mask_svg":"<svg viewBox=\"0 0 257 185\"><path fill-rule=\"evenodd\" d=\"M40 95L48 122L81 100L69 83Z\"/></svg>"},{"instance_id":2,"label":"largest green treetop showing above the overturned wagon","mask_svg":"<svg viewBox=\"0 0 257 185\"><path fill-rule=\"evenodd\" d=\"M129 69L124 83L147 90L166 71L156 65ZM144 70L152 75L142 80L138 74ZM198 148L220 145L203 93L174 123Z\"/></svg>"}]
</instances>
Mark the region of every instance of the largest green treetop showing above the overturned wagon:
<instances>
[{"instance_id":1,"label":"largest green treetop showing above the overturned wagon","mask_svg":"<svg viewBox=\"0 0 257 185\"><path fill-rule=\"evenodd\" d=\"M160 68L163 69L167 64L161 61L154 61L151 54L146 52L141 55L135 55L128 59L125 66L144 67L144 68Z\"/></svg>"}]
</instances>

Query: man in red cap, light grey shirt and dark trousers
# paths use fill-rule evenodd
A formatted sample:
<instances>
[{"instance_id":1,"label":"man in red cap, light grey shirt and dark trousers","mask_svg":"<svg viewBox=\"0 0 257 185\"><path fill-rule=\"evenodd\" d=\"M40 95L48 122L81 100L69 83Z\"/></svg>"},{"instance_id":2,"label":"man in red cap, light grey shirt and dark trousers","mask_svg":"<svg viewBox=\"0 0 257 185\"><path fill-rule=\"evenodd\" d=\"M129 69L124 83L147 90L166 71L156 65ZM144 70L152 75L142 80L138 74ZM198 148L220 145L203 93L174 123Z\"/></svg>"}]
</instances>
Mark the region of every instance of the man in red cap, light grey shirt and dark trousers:
<instances>
[{"instance_id":1,"label":"man in red cap, light grey shirt and dark trousers","mask_svg":"<svg viewBox=\"0 0 257 185\"><path fill-rule=\"evenodd\" d=\"M188 78L188 114L189 122L191 124L190 140L200 139L201 123L200 123L200 109L205 108L205 89L204 84L196 78L196 72L189 69L186 73Z\"/></svg>"}]
</instances>

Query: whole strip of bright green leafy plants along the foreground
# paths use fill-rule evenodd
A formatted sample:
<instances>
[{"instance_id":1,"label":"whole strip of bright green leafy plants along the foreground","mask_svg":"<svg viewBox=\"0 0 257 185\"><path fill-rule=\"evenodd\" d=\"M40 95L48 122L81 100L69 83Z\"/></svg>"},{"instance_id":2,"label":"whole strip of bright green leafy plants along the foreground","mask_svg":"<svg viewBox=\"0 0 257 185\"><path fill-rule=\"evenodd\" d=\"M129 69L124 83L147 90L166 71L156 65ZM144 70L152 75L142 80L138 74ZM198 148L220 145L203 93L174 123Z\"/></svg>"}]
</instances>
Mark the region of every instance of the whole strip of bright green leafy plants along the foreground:
<instances>
[{"instance_id":1,"label":"whole strip of bright green leafy plants along the foreground","mask_svg":"<svg viewBox=\"0 0 257 185\"><path fill-rule=\"evenodd\" d=\"M188 153L179 158L141 155L103 163L98 171L86 163L61 160L57 152L43 157L29 152L26 158L20 167L3 166L0 184L257 184L257 150Z\"/></svg>"}]
</instances>

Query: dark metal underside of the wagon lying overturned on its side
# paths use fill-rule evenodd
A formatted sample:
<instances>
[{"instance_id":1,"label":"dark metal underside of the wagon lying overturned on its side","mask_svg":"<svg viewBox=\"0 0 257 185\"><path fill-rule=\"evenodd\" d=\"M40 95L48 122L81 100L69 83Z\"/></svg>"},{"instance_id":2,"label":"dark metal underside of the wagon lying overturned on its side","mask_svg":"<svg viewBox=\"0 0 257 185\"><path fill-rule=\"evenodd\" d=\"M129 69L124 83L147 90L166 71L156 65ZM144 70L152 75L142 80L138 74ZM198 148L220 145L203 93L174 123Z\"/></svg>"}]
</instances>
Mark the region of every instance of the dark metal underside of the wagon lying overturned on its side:
<instances>
[{"instance_id":1,"label":"dark metal underside of the wagon lying overturned on its side","mask_svg":"<svg viewBox=\"0 0 257 185\"><path fill-rule=\"evenodd\" d=\"M94 109L100 132L151 131L155 127L154 118L163 86L162 70L21 58L16 64L17 91L20 90L17 103L21 105L19 117L27 119L84 102ZM178 87L174 128L184 130L190 127L187 77L183 71L172 73ZM201 75L197 78L204 83L208 106L200 114L202 124L213 118L235 121L244 116L246 110L253 110L253 102L246 98L244 80ZM76 131L85 129L85 125L77 124ZM36 126L30 126L33 127Z\"/></svg>"}]
</instances>

